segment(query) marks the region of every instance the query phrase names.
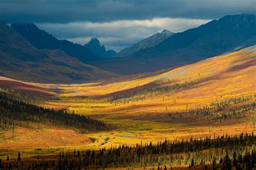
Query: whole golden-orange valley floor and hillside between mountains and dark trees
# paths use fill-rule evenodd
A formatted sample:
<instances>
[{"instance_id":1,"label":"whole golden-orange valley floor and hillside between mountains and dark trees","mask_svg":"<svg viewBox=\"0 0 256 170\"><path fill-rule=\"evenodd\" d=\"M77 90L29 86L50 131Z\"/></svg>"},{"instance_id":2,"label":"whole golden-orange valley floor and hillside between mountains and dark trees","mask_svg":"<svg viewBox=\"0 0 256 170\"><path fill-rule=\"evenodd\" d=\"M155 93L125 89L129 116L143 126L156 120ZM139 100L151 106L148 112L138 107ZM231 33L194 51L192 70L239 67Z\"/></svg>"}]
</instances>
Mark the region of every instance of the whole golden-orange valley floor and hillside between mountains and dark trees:
<instances>
[{"instance_id":1,"label":"whole golden-orange valley floor and hillside between mountains and dark trees","mask_svg":"<svg viewBox=\"0 0 256 170\"><path fill-rule=\"evenodd\" d=\"M33 160L45 153L58 157L59 152L70 148L86 151L253 132L255 58L256 46L251 46L169 71L86 84L37 84L0 77L0 86L39 95L39 99L48 96L41 106L89 115L112 127L110 131L83 134L70 128L22 122L15 131L0 130L4 134L0 149L6 153L0 158L7 154L15 158L15 148L22 149L23 158ZM40 150L31 152L31 148Z\"/></svg>"}]
</instances>

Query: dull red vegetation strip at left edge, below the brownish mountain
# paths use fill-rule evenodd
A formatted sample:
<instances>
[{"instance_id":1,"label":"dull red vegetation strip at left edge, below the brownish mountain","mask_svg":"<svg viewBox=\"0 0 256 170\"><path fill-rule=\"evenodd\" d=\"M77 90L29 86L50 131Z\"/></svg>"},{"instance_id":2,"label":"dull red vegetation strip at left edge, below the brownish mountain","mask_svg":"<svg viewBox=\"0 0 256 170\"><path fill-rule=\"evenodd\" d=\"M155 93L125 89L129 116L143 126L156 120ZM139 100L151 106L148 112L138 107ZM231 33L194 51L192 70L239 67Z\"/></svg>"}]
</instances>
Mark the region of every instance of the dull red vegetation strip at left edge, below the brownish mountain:
<instances>
[{"instance_id":1,"label":"dull red vegetation strip at left edge, below the brownish mountain","mask_svg":"<svg viewBox=\"0 0 256 170\"><path fill-rule=\"evenodd\" d=\"M56 92L53 92L49 89L45 89L43 87L37 87L34 85L29 85L25 83L21 83L19 81L12 81L12 80L0 80L0 85L8 86L16 90L21 90L24 92L28 92L30 94L36 96L46 96L46 97L53 97L55 96Z\"/></svg>"}]
</instances>

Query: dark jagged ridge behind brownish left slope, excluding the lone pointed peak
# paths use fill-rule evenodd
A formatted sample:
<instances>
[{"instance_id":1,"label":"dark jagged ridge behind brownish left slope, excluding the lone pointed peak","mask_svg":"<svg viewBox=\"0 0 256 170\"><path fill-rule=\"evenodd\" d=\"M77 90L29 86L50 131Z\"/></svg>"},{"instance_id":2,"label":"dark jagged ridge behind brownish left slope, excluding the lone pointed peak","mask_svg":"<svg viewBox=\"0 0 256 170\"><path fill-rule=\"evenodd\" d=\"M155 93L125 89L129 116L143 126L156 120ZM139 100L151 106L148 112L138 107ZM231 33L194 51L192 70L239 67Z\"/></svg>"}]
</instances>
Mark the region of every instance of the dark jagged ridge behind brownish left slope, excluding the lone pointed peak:
<instances>
[{"instance_id":1,"label":"dark jagged ridge behind brownish left slope, excluding the lone pointed peak","mask_svg":"<svg viewBox=\"0 0 256 170\"><path fill-rule=\"evenodd\" d=\"M48 32L40 30L33 23L13 23L11 27L17 30L28 42L37 49L56 50L61 49L72 57L76 57L81 62L87 63L100 58L91 51L85 49L82 45L74 44L68 40L59 40Z\"/></svg>"}]
</instances>

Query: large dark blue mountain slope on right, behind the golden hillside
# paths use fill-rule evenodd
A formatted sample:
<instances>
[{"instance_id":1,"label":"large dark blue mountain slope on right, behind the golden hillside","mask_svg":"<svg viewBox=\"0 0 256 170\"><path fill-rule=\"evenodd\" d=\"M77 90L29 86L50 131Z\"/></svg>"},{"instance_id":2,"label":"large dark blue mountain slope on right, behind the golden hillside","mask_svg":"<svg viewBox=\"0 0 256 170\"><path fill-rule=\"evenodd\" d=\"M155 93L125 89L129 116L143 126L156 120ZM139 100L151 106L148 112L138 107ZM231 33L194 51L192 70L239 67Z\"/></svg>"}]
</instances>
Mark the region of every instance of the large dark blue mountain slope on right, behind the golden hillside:
<instances>
[{"instance_id":1,"label":"large dark blue mountain slope on right, behind the golden hillside","mask_svg":"<svg viewBox=\"0 0 256 170\"><path fill-rule=\"evenodd\" d=\"M255 30L256 15L229 15L176 33L157 46L137 51L128 57L91 64L120 74L176 67L255 45Z\"/></svg>"}]
</instances>

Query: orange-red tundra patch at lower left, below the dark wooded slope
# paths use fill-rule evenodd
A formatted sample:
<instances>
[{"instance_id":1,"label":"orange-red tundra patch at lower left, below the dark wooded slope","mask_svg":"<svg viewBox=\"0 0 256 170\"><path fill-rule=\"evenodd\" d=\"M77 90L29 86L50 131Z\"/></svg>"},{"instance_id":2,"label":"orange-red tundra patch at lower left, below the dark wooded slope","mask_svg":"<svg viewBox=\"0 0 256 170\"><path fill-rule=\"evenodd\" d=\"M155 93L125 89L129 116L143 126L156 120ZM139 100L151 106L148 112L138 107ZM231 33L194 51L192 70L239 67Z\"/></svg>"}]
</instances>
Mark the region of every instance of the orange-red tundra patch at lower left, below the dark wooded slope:
<instances>
[{"instance_id":1,"label":"orange-red tundra patch at lower left, below the dark wooded slope","mask_svg":"<svg viewBox=\"0 0 256 170\"><path fill-rule=\"evenodd\" d=\"M31 128L17 127L15 140L11 140L11 132L5 132L5 139L0 140L0 153L6 149L14 148L40 148L82 146L91 143L87 134L75 130L52 125L30 124Z\"/></svg>"}]
</instances>

